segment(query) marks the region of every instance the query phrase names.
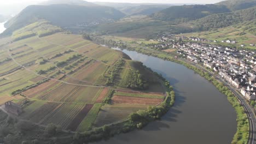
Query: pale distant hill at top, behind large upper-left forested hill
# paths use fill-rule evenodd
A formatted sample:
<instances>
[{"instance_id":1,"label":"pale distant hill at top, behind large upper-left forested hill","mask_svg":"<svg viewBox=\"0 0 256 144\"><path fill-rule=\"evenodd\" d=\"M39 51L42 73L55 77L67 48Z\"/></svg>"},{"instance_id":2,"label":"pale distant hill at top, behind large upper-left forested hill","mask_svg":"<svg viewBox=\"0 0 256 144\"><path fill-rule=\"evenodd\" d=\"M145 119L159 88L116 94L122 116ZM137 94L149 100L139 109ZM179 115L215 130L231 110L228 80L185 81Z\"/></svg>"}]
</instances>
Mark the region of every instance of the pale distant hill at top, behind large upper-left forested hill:
<instances>
[{"instance_id":1,"label":"pale distant hill at top, behind large upper-left forested hill","mask_svg":"<svg viewBox=\"0 0 256 144\"><path fill-rule=\"evenodd\" d=\"M97 4L86 2L83 0L49 0L43 3L42 5L51 5L51 4L72 4L72 5L86 5L86 6L95 6Z\"/></svg>"}]
</instances>

